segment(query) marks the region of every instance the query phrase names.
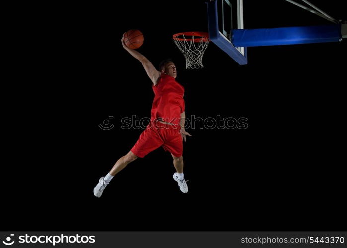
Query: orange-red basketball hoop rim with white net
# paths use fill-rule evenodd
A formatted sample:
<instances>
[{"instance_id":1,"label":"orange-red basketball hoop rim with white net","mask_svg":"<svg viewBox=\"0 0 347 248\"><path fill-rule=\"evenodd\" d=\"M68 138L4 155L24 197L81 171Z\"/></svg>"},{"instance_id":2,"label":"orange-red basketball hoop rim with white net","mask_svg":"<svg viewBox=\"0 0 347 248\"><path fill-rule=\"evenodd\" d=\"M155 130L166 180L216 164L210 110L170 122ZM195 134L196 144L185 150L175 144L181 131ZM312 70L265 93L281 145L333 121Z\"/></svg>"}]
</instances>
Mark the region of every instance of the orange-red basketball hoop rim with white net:
<instances>
[{"instance_id":1,"label":"orange-red basketball hoop rim with white net","mask_svg":"<svg viewBox=\"0 0 347 248\"><path fill-rule=\"evenodd\" d=\"M207 32L177 33L172 38L186 58L186 69L204 67L201 61L209 43Z\"/></svg>"}]
</instances>

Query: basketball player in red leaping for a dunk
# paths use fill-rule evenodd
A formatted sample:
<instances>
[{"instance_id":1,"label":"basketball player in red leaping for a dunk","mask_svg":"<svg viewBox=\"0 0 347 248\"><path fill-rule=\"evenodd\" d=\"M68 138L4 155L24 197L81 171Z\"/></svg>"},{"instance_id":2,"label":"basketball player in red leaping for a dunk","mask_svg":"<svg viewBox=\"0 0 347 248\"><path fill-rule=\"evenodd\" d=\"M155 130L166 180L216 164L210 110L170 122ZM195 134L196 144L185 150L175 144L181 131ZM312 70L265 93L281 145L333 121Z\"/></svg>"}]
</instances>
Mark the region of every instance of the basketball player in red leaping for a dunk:
<instances>
[{"instance_id":1,"label":"basketball player in red leaping for a dunk","mask_svg":"<svg viewBox=\"0 0 347 248\"><path fill-rule=\"evenodd\" d=\"M143 158L160 146L171 153L176 168L173 178L178 183L180 190L187 193L188 186L183 175L182 153L183 140L186 141L186 135L191 135L184 129L184 88L175 80L177 76L175 64L171 60L164 60L160 63L158 71L146 57L125 45L124 34L121 41L123 48L142 63L153 82L152 88L155 96L151 110L151 121L133 148L125 156L118 159L105 177L100 178L99 183L94 188L94 195L100 197L105 187L118 172L138 157Z\"/></svg>"}]
</instances>

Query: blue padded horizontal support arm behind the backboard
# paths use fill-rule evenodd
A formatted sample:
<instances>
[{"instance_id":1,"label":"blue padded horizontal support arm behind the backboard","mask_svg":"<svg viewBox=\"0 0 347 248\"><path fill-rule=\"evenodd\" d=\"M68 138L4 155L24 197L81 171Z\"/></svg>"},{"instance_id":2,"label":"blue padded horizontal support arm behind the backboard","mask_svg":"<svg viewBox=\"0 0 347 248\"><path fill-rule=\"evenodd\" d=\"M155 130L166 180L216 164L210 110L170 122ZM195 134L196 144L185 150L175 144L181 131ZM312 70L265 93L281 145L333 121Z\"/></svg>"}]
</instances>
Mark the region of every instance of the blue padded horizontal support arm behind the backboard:
<instances>
[{"instance_id":1,"label":"blue padded horizontal support arm behind the backboard","mask_svg":"<svg viewBox=\"0 0 347 248\"><path fill-rule=\"evenodd\" d=\"M341 24L284 28L233 29L232 31L232 43L235 47L336 42L342 38Z\"/></svg>"}]
</instances>

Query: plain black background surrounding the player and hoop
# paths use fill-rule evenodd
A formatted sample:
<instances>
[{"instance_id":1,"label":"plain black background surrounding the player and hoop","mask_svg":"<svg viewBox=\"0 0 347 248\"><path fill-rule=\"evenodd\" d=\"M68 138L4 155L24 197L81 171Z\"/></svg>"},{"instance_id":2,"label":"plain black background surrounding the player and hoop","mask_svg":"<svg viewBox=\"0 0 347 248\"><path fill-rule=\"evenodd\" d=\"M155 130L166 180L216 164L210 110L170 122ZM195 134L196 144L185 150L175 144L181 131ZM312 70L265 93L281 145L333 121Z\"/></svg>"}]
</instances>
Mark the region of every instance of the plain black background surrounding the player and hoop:
<instances>
[{"instance_id":1,"label":"plain black background surrounding the player and hoop","mask_svg":"<svg viewBox=\"0 0 347 248\"><path fill-rule=\"evenodd\" d=\"M311 2L347 19L341 1ZM8 111L19 121L7 119L16 128L4 150L1 229L334 231L346 222L346 41L248 48L243 66L211 43L204 68L186 70L171 37L208 31L204 1L61 3L41 14L31 16L28 80L7 102L19 103ZM284 0L245 0L244 20L245 28L329 24ZM120 129L120 119L150 116L151 81L120 43L129 29L143 32L138 51L155 66L175 61L188 118L248 118L246 130L187 130L187 194L159 148L93 195L141 133ZM108 116L115 128L101 130Z\"/></svg>"}]
</instances>

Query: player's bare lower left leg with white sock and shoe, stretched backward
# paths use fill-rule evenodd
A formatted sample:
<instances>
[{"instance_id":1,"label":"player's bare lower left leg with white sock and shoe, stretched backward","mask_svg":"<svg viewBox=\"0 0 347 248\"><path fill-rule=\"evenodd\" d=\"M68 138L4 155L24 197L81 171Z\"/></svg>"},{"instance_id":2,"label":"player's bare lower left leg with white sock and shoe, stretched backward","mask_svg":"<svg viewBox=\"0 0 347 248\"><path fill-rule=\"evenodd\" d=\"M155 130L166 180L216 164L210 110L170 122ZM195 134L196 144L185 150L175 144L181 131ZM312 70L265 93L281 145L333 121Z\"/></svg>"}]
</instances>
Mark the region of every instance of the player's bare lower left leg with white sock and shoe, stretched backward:
<instances>
[{"instance_id":1,"label":"player's bare lower left leg with white sock and shoe, stretched backward","mask_svg":"<svg viewBox=\"0 0 347 248\"><path fill-rule=\"evenodd\" d=\"M113 176L123 170L127 166L127 164L133 162L137 158L138 157L134 153L132 153L132 151L129 151L127 155L118 159L116 164L112 167L111 171L105 177L101 177L99 179L99 183L94 188L94 195L96 197L100 197L105 187L110 183L110 180L113 178Z\"/></svg>"}]
</instances>

